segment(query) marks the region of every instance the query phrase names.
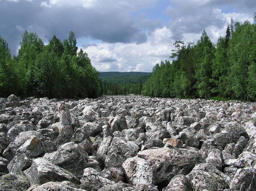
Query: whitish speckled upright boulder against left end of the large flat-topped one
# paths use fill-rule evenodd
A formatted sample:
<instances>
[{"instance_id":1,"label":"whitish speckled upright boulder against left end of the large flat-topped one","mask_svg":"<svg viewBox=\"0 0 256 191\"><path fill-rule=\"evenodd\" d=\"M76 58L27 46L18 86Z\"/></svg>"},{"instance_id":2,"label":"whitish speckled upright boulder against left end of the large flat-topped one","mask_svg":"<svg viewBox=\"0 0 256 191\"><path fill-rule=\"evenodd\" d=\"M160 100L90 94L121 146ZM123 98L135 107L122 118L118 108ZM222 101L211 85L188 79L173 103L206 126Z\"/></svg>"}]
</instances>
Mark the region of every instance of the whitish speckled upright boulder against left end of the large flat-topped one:
<instances>
[{"instance_id":1,"label":"whitish speckled upright boulder against left end of the large flat-topped one","mask_svg":"<svg viewBox=\"0 0 256 191\"><path fill-rule=\"evenodd\" d=\"M143 158L132 157L124 161L122 165L125 175L132 185L156 184L156 173Z\"/></svg>"}]
</instances>

